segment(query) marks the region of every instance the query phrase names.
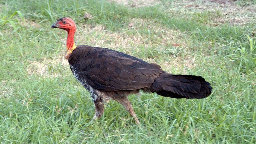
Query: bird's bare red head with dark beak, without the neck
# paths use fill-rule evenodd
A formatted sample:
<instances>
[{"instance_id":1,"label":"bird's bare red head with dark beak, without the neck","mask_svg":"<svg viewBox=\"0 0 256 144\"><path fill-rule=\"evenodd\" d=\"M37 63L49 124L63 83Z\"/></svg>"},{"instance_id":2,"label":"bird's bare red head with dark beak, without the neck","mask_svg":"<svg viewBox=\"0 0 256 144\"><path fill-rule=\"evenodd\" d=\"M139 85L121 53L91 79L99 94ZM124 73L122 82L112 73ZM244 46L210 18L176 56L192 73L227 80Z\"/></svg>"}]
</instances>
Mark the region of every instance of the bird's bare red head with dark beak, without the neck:
<instances>
[{"instance_id":1,"label":"bird's bare red head with dark beak, without the neck","mask_svg":"<svg viewBox=\"0 0 256 144\"><path fill-rule=\"evenodd\" d=\"M64 18L58 19L57 22L52 25L52 28L63 29L63 30L66 30L67 32L72 30L73 32L75 32L76 24L71 18L64 17Z\"/></svg>"}]
</instances>

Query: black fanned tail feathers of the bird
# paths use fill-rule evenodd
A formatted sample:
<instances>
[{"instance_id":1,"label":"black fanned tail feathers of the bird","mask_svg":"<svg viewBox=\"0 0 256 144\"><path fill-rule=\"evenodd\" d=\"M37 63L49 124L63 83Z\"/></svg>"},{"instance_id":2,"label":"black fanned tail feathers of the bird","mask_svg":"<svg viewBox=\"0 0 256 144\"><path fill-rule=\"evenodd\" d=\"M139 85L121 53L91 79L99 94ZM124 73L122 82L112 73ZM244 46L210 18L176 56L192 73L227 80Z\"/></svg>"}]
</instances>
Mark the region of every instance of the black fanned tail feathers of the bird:
<instances>
[{"instance_id":1,"label":"black fanned tail feathers of the bird","mask_svg":"<svg viewBox=\"0 0 256 144\"><path fill-rule=\"evenodd\" d=\"M151 92L173 98L202 99L211 94L212 87L201 76L162 73L150 87Z\"/></svg>"}]
</instances>

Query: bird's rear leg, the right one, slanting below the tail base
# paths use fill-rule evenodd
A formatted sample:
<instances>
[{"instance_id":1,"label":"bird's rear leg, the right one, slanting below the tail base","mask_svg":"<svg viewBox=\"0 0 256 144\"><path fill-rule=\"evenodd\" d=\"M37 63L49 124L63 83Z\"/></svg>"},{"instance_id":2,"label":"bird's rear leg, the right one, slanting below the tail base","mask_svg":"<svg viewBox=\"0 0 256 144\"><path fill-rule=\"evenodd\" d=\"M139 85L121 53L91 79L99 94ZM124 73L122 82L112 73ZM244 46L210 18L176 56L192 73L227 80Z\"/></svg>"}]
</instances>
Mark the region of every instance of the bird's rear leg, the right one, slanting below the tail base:
<instances>
[{"instance_id":1,"label":"bird's rear leg, the right one, slanting below the tail base","mask_svg":"<svg viewBox=\"0 0 256 144\"><path fill-rule=\"evenodd\" d=\"M118 98L114 98L114 100L116 100L117 102L122 104L124 106L124 108L126 109L126 111L128 111L130 113L130 115L134 118L136 124L140 125L140 121L133 110L133 106L132 106L131 102L127 99L127 97L118 97Z\"/></svg>"}]
</instances>

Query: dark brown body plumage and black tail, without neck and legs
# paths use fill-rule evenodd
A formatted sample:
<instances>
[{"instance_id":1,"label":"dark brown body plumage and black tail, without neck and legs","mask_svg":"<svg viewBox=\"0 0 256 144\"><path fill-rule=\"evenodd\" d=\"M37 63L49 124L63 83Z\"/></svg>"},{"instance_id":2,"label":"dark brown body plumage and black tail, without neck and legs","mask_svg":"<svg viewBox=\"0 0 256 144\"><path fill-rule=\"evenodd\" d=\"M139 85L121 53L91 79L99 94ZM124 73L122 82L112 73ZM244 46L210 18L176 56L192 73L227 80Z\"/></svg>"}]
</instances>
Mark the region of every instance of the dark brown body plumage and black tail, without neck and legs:
<instances>
[{"instance_id":1,"label":"dark brown body plumage and black tail, without neck and legs","mask_svg":"<svg viewBox=\"0 0 256 144\"><path fill-rule=\"evenodd\" d=\"M142 89L164 97L201 99L212 90L201 76L172 75L159 65L107 48L80 45L68 60L75 77L94 92Z\"/></svg>"}]
</instances>

